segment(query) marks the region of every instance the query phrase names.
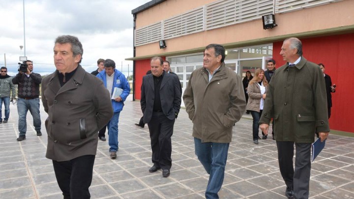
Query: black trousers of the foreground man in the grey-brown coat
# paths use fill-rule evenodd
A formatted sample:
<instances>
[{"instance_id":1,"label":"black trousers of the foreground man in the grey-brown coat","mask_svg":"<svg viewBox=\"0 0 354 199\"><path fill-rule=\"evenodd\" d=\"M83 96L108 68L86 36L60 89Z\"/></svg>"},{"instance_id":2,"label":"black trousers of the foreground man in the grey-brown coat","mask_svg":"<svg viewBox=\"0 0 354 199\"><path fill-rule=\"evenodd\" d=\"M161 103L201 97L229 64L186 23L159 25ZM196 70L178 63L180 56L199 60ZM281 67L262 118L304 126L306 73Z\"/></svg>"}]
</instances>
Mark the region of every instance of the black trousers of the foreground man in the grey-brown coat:
<instances>
[{"instance_id":1,"label":"black trousers of the foreground man in the grey-brown coat","mask_svg":"<svg viewBox=\"0 0 354 199\"><path fill-rule=\"evenodd\" d=\"M64 199L89 199L94 155L84 155L69 161L53 160L54 172Z\"/></svg>"}]
</instances>

